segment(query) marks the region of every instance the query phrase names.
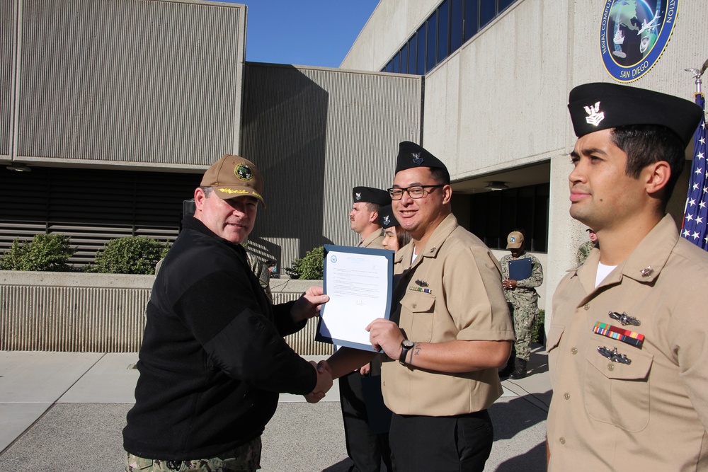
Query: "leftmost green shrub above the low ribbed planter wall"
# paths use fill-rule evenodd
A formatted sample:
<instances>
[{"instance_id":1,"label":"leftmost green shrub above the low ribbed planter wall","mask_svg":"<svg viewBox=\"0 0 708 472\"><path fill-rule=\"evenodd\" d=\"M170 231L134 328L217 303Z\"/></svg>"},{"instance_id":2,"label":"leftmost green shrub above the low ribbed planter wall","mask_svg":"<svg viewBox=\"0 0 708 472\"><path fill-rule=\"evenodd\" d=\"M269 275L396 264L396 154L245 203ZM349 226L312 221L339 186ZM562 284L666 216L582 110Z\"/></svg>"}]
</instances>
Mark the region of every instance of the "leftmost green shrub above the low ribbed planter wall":
<instances>
[{"instance_id":1,"label":"leftmost green shrub above the low ribbed planter wall","mask_svg":"<svg viewBox=\"0 0 708 472\"><path fill-rule=\"evenodd\" d=\"M72 270L67 260L75 252L76 248L69 247L66 234L35 234L22 242L15 238L0 258L0 269L66 272Z\"/></svg>"}]
</instances>

